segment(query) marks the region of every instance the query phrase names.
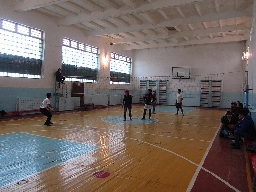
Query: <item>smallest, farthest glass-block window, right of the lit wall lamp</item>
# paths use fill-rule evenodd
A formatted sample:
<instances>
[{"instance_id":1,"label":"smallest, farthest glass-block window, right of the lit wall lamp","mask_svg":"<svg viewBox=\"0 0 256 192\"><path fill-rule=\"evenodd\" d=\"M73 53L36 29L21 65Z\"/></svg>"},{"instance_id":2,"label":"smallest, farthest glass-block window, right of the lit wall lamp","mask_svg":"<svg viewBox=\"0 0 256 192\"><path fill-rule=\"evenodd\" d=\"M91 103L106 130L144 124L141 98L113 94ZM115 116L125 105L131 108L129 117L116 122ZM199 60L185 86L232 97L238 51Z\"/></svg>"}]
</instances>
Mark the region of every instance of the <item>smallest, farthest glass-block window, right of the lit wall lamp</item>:
<instances>
[{"instance_id":1,"label":"smallest, farthest glass-block window, right of the lit wall lamp","mask_svg":"<svg viewBox=\"0 0 256 192\"><path fill-rule=\"evenodd\" d=\"M110 60L110 83L130 84L131 58L111 53ZM122 77L122 78L118 78ZM129 78L125 78L129 77Z\"/></svg>"}]
</instances>

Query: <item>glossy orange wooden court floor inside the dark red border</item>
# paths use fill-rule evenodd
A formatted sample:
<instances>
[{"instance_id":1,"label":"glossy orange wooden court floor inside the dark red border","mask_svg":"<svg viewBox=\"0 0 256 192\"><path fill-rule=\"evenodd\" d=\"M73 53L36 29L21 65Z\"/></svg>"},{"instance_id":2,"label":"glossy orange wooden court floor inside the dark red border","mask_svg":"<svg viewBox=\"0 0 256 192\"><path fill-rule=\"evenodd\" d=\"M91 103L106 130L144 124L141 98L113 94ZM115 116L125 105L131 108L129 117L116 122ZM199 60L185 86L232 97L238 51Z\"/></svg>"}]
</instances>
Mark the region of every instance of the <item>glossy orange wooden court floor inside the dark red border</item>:
<instances>
[{"instance_id":1,"label":"glossy orange wooden court floor inside the dark red border","mask_svg":"<svg viewBox=\"0 0 256 192\"><path fill-rule=\"evenodd\" d=\"M201 169L211 173L202 166L225 110L156 111L153 123L142 110L132 122L120 106L54 113L51 127L43 114L0 119L0 191L192 190Z\"/></svg>"}]
</instances>

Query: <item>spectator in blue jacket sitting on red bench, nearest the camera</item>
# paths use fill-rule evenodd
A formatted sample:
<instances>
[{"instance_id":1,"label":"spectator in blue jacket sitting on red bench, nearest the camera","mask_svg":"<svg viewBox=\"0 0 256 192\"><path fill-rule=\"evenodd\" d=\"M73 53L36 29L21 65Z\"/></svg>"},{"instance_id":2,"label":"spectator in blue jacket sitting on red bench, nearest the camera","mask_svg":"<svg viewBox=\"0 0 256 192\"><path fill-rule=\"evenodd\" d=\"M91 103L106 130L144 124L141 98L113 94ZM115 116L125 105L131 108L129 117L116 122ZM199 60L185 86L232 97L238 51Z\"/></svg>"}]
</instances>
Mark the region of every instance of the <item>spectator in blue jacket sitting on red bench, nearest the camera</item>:
<instances>
[{"instance_id":1,"label":"spectator in blue jacket sitting on red bench, nearest the camera","mask_svg":"<svg viewBox=\"0 0 256 192\"><path fill-rule=\"evenodd\" d=\"M230 148L240 149L240 142L242 141L241 137L246 140L255 140L256 131L254 127L254 122L252 118L248 115L249 110L246 108L240 109L238 111L238 117L241 120L238 124L230 124L229 128L234 130L235 143L231 143Z\"/></svg>"}]
</instances>

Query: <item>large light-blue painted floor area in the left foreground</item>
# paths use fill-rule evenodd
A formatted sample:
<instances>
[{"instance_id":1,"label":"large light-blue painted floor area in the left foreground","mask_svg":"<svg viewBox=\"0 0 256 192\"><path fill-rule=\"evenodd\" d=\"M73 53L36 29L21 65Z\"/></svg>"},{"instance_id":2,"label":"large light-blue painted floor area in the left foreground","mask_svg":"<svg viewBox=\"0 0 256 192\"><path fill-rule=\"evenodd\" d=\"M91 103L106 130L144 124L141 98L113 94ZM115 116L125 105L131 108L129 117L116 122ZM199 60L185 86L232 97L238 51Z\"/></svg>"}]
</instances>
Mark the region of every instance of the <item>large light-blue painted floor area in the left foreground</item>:
<instances>
[{"instance_id":1,"label":"large light-blue painted floor area in the left foreground","mask_svg":"<svg viewBox=\"0 0 256 192\"><path fill-rule=\"evenodd\" d=\"M0 143L0 186L99 148L22 132L0 135Z\"/></svg>"}]
</instances>

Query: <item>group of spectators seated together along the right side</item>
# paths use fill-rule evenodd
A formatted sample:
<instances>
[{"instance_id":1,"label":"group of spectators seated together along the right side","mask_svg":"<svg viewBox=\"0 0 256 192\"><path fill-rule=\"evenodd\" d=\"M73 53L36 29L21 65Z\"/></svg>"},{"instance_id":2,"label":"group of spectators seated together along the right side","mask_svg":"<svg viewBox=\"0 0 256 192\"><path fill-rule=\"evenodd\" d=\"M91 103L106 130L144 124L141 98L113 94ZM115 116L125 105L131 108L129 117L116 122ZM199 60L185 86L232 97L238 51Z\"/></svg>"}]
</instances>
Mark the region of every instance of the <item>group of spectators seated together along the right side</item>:
<instances>
[{"instance_id":1,"label":"group of spectators seated together along the right side","mask_svg":"<svg viewBox=\"0 0 256 192\"><path fill-rule=\"evenodd\" d=\"M249 109L243 108L239 101L237 103L231 103L230 110L221 118L222 127L219 133L220 137L229 137L231 133L234 135L235 140L230 144L232 149L240 149L242 138L255 140L256 137L254 122L248 115Z\"/></svg>"}]
</instances>

